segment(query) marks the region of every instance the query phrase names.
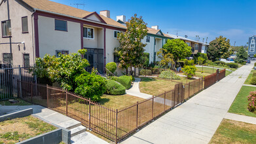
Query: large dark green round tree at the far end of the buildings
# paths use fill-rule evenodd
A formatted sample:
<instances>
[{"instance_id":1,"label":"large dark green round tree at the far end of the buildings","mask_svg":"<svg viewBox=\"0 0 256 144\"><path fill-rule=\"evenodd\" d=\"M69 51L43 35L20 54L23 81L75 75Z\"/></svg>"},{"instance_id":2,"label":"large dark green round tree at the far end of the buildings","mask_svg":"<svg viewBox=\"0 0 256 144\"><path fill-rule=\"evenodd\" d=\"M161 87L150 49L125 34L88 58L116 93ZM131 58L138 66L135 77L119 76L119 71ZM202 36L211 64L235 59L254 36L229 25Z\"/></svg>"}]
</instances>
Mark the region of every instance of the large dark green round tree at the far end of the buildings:
<instances>
[{"instance_id":1,"label":"large dark green round tree at the far end of the buildings","mask_svg":"<svg viewBox=\"0 0 256 144\"><path fill-rule=\"evenodd\" d=\"M229 58L229 56L232 54L229 42L230 40L226 37L216 37L216 39L210 42L210 46L207 50L208 58L213 62L219 60L219 58Z\"/></svg>"}]
</instances>

